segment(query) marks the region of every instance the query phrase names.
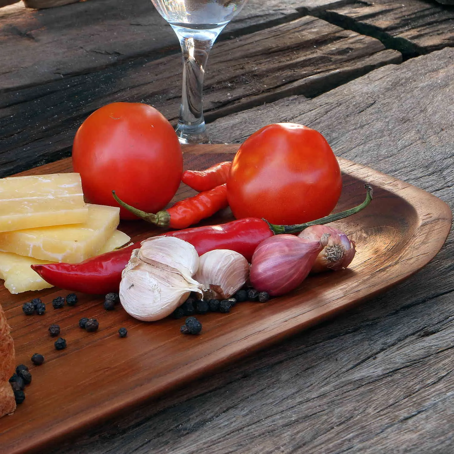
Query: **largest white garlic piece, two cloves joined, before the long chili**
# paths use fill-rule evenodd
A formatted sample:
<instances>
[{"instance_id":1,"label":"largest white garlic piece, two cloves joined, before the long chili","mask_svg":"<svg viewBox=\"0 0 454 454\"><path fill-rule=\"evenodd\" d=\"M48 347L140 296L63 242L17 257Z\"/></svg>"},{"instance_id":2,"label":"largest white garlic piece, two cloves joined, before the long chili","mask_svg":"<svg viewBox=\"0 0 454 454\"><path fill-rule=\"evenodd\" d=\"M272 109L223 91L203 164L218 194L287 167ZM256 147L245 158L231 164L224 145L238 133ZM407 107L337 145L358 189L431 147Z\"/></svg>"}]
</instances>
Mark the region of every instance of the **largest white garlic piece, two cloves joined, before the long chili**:
<instances>
[{"instance_id":1,"label":"largest white garlic piece, two cloves joined, before the long chili","mask_svg":"<svg viewBox=\"0 0 454 454\"><path fill-rule=\"evenodd\" d=\"M198 267L193 246L179 238L157 238L166 241L143 242L122 272L120 302L138 320L160 320L183 304L191 291L202 294L191 276L191 270Z\"/></svg>"}]
</instances>

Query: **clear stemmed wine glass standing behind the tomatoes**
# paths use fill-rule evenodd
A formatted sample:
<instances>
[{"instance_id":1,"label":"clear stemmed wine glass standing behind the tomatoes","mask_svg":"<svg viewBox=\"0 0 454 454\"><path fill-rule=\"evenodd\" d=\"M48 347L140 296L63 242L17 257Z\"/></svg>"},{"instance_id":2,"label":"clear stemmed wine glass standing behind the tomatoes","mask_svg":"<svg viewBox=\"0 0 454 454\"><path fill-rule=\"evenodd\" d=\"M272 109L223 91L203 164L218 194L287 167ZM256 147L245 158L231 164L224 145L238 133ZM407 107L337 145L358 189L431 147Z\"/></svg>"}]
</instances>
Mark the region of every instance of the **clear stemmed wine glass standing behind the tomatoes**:
<instances>
[{"instance_id":1,"label":"clear stemmed wine glass standing behind the tomatoes","mask_svg":"<svg viewBox=\"0 0 454 454\"><path fill-rule=\"evenodd\" d=\"M183 53L183 91L177 132L180 143L210 143L202 108L208 54L217 36L247 0L152 0L171 25Z\"/></svg>"}]
</instances>

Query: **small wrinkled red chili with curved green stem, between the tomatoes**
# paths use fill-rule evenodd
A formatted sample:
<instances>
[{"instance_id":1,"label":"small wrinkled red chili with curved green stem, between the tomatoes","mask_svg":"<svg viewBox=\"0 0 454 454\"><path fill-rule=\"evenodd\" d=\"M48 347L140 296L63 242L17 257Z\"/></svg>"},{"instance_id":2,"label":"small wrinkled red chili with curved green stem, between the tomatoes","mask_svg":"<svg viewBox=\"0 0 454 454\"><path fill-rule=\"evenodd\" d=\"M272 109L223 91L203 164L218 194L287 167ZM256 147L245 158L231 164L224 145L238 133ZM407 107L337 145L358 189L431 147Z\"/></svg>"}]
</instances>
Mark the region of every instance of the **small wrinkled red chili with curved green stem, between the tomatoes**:
<instances>
[{"instance_id":1,"label":"small wrinkled red chili with curved green stem, between the tomatoes","mask_svg":"<svg viewBox=\"0 0 454 454\"><path fill-rule=\"evenodd\" d=\"M212 188L209 191L199 192L194 197L180 200L167 210L158 211L156 214L147 213L128 205L117 197L115 191L112 191L112 194L120 206L136 216L157 226L174 229L183 229L197 224L202 219L210 217L228 206L227 187L225 184L216 186L216 188Z\"/></svg>"}]
</instances>

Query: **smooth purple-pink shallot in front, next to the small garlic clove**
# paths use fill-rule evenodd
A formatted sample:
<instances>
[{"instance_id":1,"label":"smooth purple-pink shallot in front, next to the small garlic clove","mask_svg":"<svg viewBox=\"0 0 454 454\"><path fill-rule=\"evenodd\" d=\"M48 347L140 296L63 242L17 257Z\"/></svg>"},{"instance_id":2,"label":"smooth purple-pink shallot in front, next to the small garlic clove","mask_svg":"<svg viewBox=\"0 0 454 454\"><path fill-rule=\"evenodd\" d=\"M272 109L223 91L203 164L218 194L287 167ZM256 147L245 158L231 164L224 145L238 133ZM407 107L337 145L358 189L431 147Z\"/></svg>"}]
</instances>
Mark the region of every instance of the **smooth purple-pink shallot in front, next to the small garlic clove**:
<instances>
[{"instance_id":1,"label":"smooth purple-pink shallot in front, next to the small garlic clove","mask_svg":"<svg viewBox=\"0 0 454 454\"><path fill-rule=\"evenodd\" d=\"M313 242L282 234L262 241L252 255L250 281L258 291L280 296L295 289L311 271L329 235Z\"/></svg>"}]
</instances>

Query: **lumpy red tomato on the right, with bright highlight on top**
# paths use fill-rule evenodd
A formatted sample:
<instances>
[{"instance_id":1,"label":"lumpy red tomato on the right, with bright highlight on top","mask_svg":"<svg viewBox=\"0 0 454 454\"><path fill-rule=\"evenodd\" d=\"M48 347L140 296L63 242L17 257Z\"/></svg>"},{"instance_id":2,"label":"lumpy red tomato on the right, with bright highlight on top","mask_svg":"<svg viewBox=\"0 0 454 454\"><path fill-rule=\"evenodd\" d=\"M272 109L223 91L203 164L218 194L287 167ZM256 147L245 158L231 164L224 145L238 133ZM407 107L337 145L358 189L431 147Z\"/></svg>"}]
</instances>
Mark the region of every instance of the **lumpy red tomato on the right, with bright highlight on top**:
<instances>
[{"instance_id":1,"label":"lumpy red tomato on the right, with bright highlight on top","mask_svg":"<svg viewBox=\"0 0 454 454\"><path fill-rule=\"evenodd\" d=\"M321 133L278 123L259 129L238 149L227 198L236 218L299 224L328 215L341 188L341 169Z\"/></svg>"}]
</instances>

